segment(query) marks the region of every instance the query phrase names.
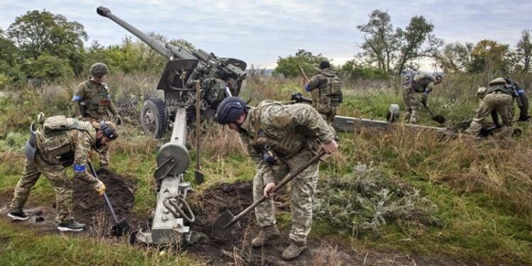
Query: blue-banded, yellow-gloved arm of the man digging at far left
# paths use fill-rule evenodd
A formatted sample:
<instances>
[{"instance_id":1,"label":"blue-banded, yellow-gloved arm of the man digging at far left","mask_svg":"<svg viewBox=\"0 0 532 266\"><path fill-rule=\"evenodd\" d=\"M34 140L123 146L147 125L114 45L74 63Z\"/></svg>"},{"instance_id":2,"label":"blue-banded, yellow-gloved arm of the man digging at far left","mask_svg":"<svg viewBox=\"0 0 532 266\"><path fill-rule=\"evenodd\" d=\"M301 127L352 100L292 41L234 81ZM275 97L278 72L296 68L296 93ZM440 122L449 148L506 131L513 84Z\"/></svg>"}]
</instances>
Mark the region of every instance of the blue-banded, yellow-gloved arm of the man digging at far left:
<instances>
[{"instance_id":1,"label":"blue-banded, yellow-gloved arm of the man digging at far left","mask_svg":"<svg viewBox=\"0 0 532 266\"><path fill-rule=\"evenodd\" d=\"M87 160L89 158L89 151L92 149L91 139L89 133L84 131L74 131L74 177L82 179L84 182L94 184L98 180L89 173L87 167Z\"/></svg>"}]
</instances>

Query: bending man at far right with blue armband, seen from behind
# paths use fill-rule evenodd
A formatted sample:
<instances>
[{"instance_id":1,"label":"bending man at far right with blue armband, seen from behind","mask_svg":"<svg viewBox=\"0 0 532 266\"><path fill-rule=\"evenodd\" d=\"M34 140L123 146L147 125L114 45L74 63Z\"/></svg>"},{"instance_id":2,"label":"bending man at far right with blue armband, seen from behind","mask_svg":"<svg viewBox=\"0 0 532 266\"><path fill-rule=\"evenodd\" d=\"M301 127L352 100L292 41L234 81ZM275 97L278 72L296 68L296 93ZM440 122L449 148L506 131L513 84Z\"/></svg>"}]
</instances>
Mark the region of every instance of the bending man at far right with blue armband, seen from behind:
<instances>
[{"instance_id":1,"label":"bending man at far right with blue armband, seen from behind","mask_svg":"<svg viewBox=\"0 0 532 266\"><path fill-rule=\"evenodd\" d=\"M482 122L490 114L497 126L511 127L514 118L514 97L521 109L519 121L526 121L529 118L528 99L524 90L517 84L511 84L504 77L498 77L489 82L489 88L480 87L477 90L477 97L480 98L480 106L467 128L467 133L478 135L482 129ZM497 114L501 116L502 125L499 125Z\"/></svg>"}]
</instances>

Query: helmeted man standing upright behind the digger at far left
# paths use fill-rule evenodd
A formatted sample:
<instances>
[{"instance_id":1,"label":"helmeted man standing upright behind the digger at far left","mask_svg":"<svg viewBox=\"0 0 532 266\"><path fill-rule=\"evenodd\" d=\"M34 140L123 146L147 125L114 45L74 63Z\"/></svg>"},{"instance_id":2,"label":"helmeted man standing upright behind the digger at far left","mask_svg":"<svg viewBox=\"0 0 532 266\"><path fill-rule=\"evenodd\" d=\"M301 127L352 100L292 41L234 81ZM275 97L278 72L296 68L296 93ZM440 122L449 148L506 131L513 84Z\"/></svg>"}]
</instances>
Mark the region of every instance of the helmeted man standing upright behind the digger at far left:
<instances>
[{"instance_id":1,"label":"helmeted man standing upright behind the digger at far left","mask_svg":"<svg viewBox=\"0 0 532 266\"><path fill-rule=\"evenodd\" d=\"M121 125L122 118L116 111L107 85L103 83L104 78L109 74L109 69L104 63L95 63L91 66L90 72L90 79L77 86L70 102L74 115L86 121L100 122L110 120L108 113L110 111L116 118L116 124ZM108 168L109 145L102 145L97 152L99 153L100 166Z\"/></svg>"}]
</instances>

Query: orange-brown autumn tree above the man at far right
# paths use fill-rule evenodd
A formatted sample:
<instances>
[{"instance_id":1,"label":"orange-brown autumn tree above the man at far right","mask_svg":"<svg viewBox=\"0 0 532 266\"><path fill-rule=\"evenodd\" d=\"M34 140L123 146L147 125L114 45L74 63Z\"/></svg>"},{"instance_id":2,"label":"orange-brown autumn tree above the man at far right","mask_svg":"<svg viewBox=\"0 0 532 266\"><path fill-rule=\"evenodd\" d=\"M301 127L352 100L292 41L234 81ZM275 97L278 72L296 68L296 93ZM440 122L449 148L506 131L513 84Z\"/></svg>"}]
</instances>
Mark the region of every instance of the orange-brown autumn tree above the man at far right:
<instances>
[{"instance_id":1,"label":"orange-brown autumn tree above the man at far right","mask_svg":"<svg viewBox=\"0 0 532 266\"><path fill-rule=\"evenodd\" d=\"M472 61L467 71L494 74L501 67L508 67L509 52L509 45L497 43L494 40L481 40L471 52Z\"/></svg>"}]
</instances>

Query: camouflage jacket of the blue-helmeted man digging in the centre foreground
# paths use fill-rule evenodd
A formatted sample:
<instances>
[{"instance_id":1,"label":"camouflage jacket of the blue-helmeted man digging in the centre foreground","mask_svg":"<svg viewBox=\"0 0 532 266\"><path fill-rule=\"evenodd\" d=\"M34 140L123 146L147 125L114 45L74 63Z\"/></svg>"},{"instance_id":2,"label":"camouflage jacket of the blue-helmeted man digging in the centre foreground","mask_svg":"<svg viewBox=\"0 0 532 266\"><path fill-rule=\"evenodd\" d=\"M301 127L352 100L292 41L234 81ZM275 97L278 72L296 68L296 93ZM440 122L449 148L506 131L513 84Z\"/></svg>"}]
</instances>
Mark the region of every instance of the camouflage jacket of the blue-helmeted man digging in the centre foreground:
<instances>
[{"instance_id":1,"label":"camouflage jacket of the blue-helmeted man digging in the centre foreground","mask_svg":"<svg viewBox=\"0 0 532 266\"><path fill-rule=\"evenodd\" d=\"M327 143L334 138L331 127L308 104L283 105L277 101L261 101L250 108L240 128L240 140L247 145L257 168L265 173L265 183L275 180L272 165L262 158L267 146L283 160L303 149L316 152L319 143Z\"/></svg>"}]
</instances>

